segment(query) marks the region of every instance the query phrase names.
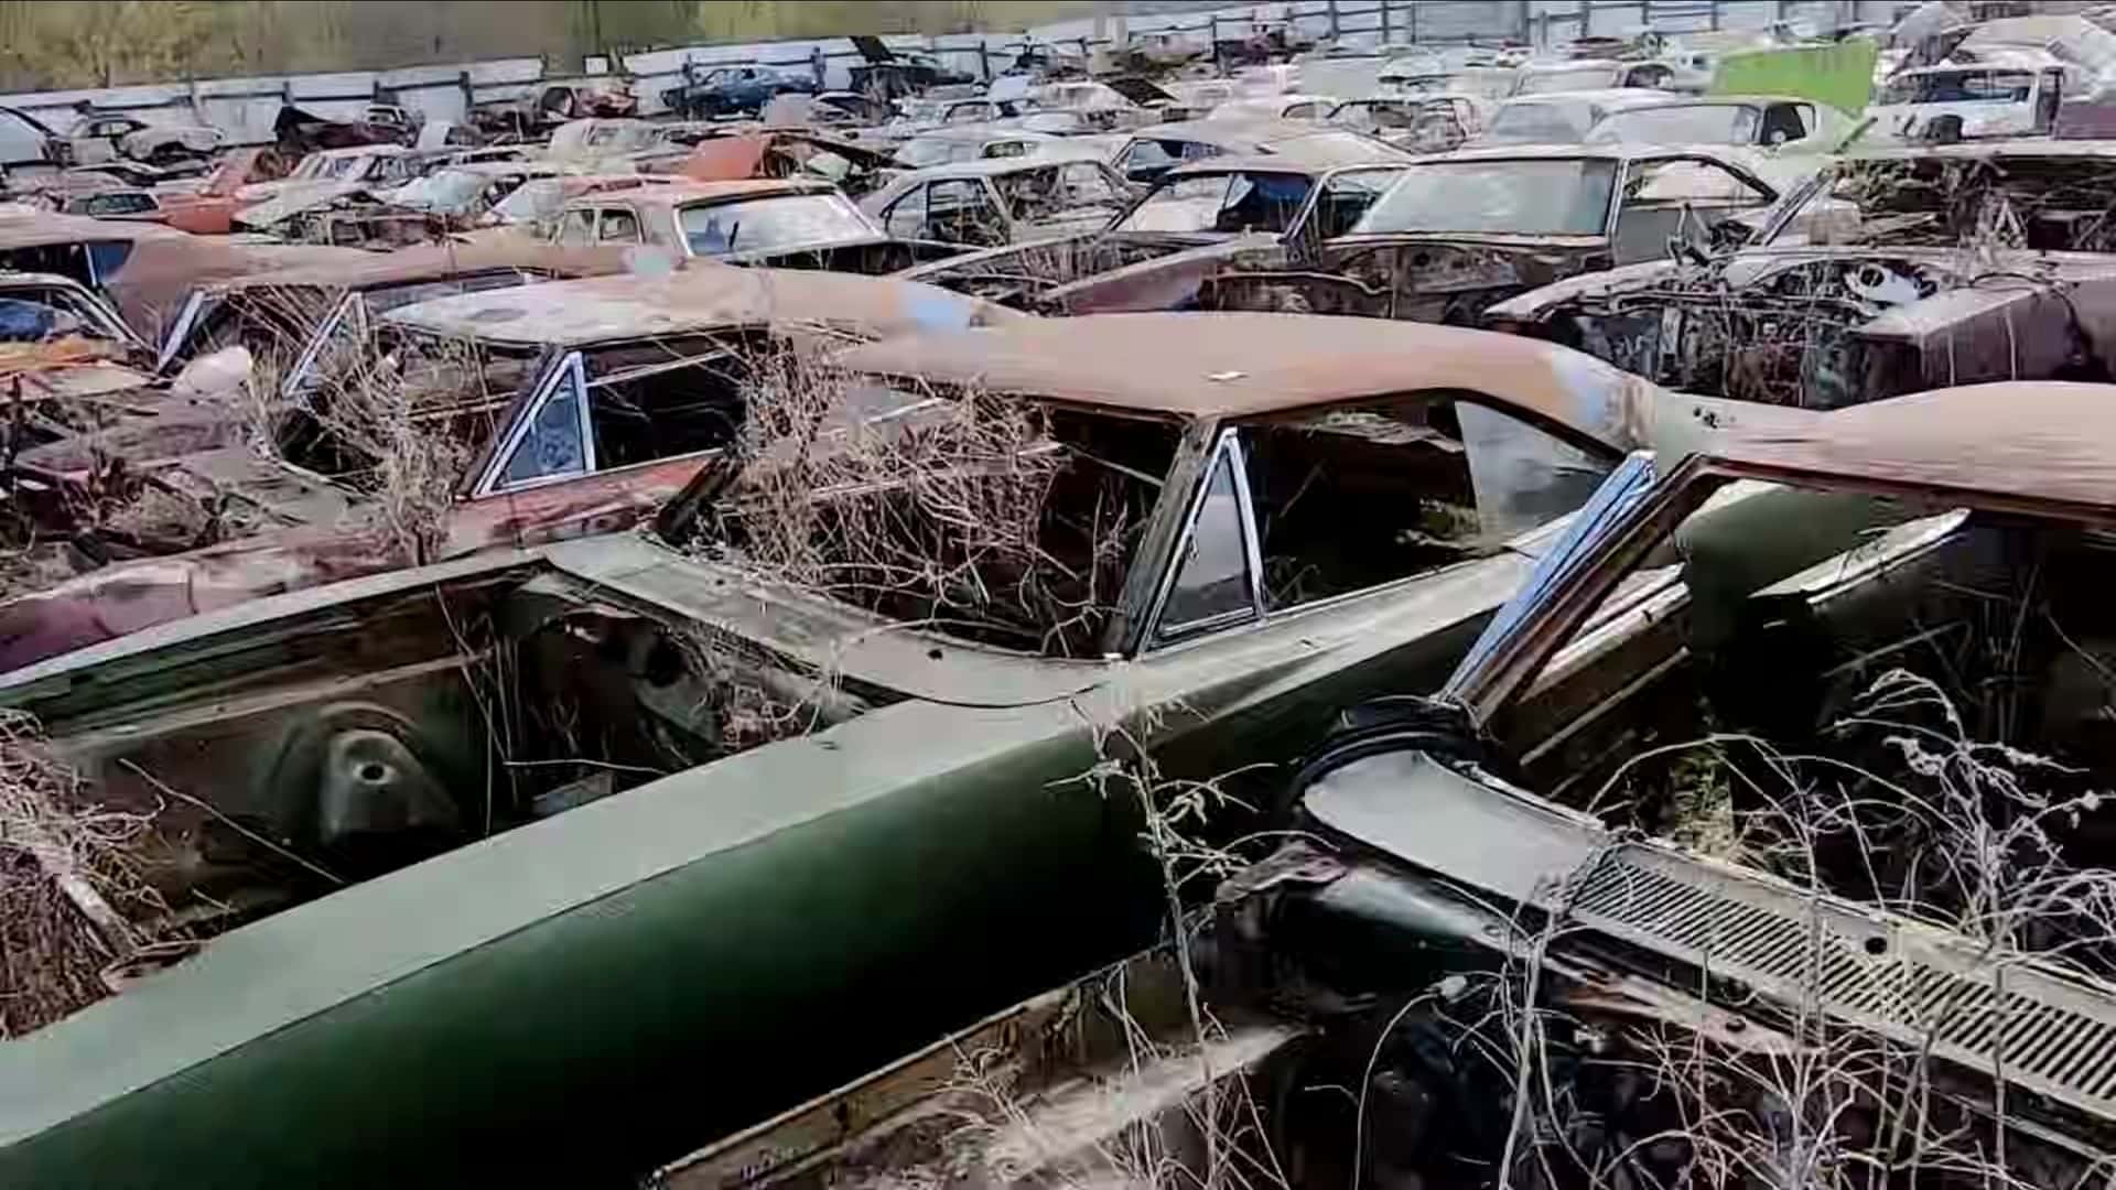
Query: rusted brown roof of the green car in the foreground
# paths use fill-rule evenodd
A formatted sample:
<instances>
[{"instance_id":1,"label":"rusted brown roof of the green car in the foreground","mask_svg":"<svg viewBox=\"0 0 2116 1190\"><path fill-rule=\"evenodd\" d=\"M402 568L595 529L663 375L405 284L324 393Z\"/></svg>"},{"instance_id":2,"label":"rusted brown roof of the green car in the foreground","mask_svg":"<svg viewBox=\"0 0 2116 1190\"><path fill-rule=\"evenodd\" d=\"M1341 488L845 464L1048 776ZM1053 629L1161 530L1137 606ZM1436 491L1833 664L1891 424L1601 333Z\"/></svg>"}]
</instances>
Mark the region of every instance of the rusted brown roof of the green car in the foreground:
<instances>
[{"instance_id":1,"label":"rusted brown roof of the green car in the foreground","mask_svg":"<svg viewBox=\"0 0 2116 1190\"><path fill-rule=\"evenodd\" d=\"M1456 387L1504 396L1587 432L1600 432L1587 421L1600 394L1650 387L1568 347L1515 335L1314 313L1090 313L887 339L853 347L840 362L1168 417L1246 417ZM1595 400L1585 400L1587 390Z\"/></svg>"}]
</instances>

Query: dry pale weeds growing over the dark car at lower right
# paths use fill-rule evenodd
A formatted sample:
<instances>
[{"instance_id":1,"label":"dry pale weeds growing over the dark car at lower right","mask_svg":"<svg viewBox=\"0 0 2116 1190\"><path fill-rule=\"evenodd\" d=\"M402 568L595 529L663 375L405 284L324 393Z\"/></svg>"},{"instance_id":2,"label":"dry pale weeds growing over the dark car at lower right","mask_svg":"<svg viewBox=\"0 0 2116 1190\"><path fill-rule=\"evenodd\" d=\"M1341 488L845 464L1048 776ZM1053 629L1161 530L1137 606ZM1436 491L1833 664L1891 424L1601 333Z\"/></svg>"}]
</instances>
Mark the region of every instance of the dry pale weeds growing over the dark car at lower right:
<instances>
[{"instance_id":1,"label":"dry pale weeds growing over the dark car at lower right","mask_svg":"<svg viewBox=\"0 0 2116 1190\"><path fill-rule=\"evenodd\" d=\"M1763 809L1735 819L1748 862L1945 925L1981 944L1995 980L2029 955L2110 951L2116 872L2063 851L2067 830L2105 794L2050 792L2076 771L1972 739L1936 684L1900 669L1866 688L1835 737L1864 741L1864 762L1788 756L1735 735L1655 752L1705 752L1701 788L1758 794ZM2023 1143L2036 1133L2008 1112L2004 1067L1993 1093L1964 1095L1932 1054L1945 1016L1904 1044L1826 1012L1820 932L1805 963L1813 974L1777 1023L1782 1046L1754 1044L1763 1025L1750 1027L1750 1044L1636 1023L1610 1040L1545 995L1547 955L1572 930L1564 904L1559 896L1545 925L1517 927L1485 1010L1456 1029L1513 1088L1500 1186L2050 1190L2116 1175L2112 1158ZM1589 1093L1595 1063L1604 1088L1629 1088L1621 1114Z\"/></svg>"}]
</instances>

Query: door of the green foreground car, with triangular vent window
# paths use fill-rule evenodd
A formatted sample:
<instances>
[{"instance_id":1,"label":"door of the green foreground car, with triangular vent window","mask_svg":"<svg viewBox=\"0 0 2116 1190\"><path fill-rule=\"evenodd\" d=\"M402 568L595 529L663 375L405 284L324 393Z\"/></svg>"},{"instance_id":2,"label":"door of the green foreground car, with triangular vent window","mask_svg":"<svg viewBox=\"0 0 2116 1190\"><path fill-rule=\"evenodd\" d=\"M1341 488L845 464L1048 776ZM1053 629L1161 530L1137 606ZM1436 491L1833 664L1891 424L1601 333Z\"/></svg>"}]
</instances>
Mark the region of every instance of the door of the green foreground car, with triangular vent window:
<instances>
[{"instance_id":1,"label":"door of the green foreground car, with triangular vent window","mask_svg":"<svg viewBox=\"0 0 2116 1190\"><path fill-rule=\"evenodd\" d=\"M1219 426L1200 455L1138 690L1187 707L1157 756L1204 773L1301 756L1344 707L1439 688L1619 462L1473 394Z\"/></svg>"}]
</instances>

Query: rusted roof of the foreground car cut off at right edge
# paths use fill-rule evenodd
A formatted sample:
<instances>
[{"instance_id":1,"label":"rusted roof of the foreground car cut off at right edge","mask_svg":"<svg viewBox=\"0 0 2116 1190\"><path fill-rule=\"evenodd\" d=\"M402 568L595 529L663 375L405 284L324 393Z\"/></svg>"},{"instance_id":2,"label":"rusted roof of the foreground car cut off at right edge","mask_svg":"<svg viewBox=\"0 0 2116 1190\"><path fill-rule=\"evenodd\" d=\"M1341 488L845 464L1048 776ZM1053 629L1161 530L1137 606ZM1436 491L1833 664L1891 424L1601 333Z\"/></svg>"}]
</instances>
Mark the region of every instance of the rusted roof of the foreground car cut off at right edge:
<instances>
[{"instance_id":1,"label":"rusted roof of the foreground car cut off at right edge","mask_svg":"<svg viewBox=\"0 0 2116 1190\"><path fill-rule=\"evenodd\" d=\"M1708 457L1777 479L1830 476L1887 491L2019 502L2116 519L2116 387L2002 381L1942 387L1718 436Z\"/></svg>"}]
</instances>

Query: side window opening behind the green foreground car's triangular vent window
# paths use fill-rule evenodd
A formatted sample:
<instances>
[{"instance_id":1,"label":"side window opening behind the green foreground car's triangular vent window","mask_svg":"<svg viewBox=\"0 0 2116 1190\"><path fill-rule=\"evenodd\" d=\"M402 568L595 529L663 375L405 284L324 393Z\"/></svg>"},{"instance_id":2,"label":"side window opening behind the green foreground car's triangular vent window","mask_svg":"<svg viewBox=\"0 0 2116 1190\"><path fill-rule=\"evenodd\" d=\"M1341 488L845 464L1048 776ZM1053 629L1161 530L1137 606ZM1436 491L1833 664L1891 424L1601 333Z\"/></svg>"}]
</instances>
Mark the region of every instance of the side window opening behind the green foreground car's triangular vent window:
<instances>
[{"instance_id":1,"label":"side window opening behind the green foreground car's triangular vent window","mask_svg":"<svg viewBox=\"0 0 2116 1190\"><path fill-rule=\"evenodd\" d=\"M1466 400L1329 411L1242 434L1267 612L1483 557L1583 504L1608 470Z\"/></svg>"}]
</instances>

